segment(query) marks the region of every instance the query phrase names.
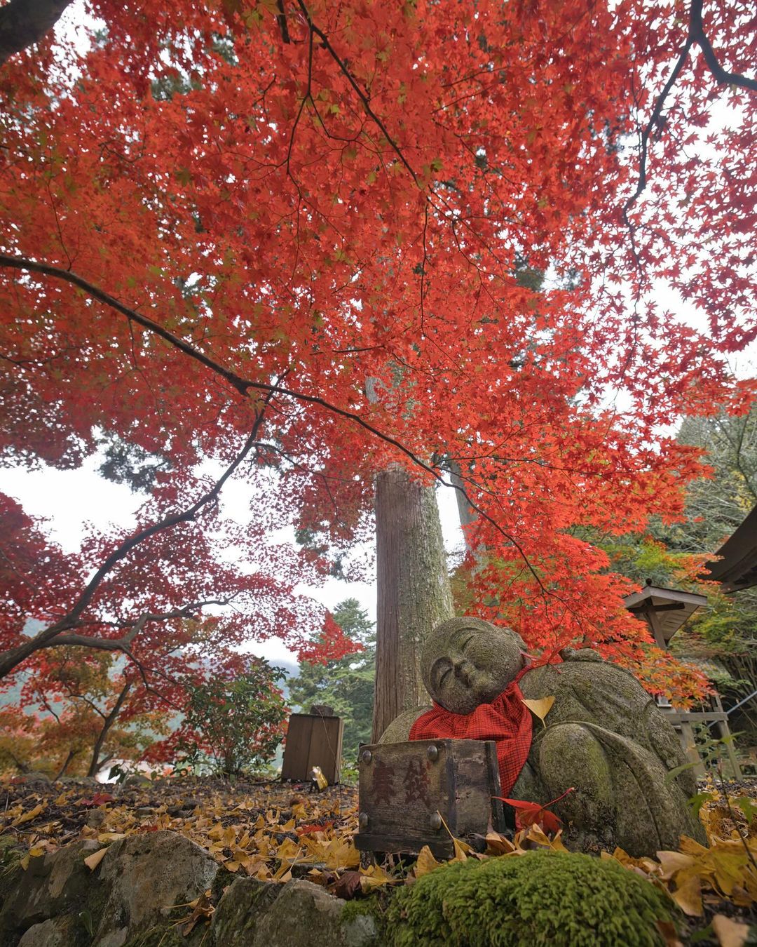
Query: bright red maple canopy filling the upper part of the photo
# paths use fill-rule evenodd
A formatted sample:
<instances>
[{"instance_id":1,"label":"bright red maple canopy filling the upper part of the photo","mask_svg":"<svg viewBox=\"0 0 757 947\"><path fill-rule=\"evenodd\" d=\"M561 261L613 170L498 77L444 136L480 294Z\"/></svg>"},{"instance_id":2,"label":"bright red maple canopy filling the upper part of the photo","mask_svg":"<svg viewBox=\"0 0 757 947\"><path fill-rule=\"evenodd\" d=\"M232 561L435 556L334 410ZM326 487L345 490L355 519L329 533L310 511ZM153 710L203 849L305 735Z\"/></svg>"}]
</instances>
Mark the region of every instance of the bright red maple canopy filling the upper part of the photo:
<instances>
[{"instance_id":1,"label":"bright red maple canopy filling the upper part of the photo","mask_svg":"<svg viewBox=\"0 0 757 947\"><path fill-rule=\"evenodd\" d=\"M88 9L86 52L47 40L0 71L0 450L76 466L106 431L171 467L134 532L78 556L6 501L0 672L95 639L148 675L174 642L302 646L320 617L294 585L366 534L398 460L462 471L478 600L494 587L530 645L590 639L699 687L580 530L678 515L699 459L660 424L753 398L727 361L757 335L751 5ZM326 548L274 548L286 524Z\"/></svg>"}]
</instances>

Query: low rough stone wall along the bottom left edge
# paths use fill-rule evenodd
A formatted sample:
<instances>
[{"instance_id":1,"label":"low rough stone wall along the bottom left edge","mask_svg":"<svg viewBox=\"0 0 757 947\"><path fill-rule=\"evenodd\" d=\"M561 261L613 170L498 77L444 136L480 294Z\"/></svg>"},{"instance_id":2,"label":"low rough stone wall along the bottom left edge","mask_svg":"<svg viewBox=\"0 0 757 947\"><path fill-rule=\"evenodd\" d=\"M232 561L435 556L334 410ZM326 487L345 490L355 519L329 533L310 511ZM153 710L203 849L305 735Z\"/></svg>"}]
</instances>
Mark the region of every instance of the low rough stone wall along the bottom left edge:
<instances>
[{"instance_id":1,"label":"low rough stone wall along the bottom left edge","mask_svg":"<svg viewBox=\"0 0 757 947\"><path fill-rule=\"evenodd\" d=\"M156 831L100 846L79 841L0 876L0 947L371 947L375 916L304 880L235 878L183 835ZM210 927L191 931L188 902L206 890ZM185 936L186 935L186 936Z\"/></svg>"}]
</instances>

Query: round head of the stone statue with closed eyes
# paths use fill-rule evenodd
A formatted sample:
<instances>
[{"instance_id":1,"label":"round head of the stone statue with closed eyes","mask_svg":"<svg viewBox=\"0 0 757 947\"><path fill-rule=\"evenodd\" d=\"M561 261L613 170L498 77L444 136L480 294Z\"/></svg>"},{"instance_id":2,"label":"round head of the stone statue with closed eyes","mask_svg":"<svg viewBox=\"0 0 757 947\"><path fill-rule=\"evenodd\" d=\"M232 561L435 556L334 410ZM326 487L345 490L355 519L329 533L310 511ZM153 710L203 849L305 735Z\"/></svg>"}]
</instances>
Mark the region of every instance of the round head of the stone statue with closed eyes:
<instances>
[{"instance_id":1,"label":"round head of the stone statue with closed eyes","mask_svg":"<svg viewBox=\"0 0 757 947\"><path fill-rule=\"evenodd\" d=\"M523 667L522 638L482 618L449 618L423 644L423 683L437 704L470 713L490 704Z\"/></svg>"}]
</instances>

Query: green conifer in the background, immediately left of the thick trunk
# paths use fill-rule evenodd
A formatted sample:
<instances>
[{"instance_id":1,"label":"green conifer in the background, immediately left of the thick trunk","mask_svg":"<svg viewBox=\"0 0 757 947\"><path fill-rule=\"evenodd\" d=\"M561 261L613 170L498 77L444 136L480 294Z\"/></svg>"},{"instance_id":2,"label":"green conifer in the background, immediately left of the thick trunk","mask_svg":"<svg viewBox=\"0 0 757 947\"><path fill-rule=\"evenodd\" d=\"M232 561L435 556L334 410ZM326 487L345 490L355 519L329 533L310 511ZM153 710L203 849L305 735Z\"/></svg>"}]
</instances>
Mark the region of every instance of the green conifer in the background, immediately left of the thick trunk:
<instances>
[{"instance_id":1,"label":"green conifer in the background, immediately left of the thick trunk","mask_svg":"<svg viewBox=\"0 0 757 947\"><path fill-rule=\"evenodd\" d=\"M376 639L373 622L357 599L340 602L334 610L334 620L364 650L326 664L302 662L298 676L290 681L290 701L306 713L313 704L334 708L344 720L343 755L349 763L357 757L361 742L370 742L371 738Z\"/></svg>"}]
</instances>

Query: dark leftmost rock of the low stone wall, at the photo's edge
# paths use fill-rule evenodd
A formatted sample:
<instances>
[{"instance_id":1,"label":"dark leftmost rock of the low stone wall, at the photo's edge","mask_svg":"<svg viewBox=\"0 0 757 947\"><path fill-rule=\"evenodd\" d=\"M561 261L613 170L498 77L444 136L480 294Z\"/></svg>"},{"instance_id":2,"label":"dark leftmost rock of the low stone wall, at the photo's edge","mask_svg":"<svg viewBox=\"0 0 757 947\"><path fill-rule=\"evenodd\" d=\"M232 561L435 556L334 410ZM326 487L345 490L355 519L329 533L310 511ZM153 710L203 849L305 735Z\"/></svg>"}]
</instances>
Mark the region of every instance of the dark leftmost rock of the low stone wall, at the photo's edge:
<instances>
[{"instance_id":1,"label":"dark leftmost rock of the low stone wall, at the photo's edge","mask_svg":"<svg viewBox=\"0 0 757 947\"><path fill-rule=\"evenodd\" d=\"M83 839L35 859L9 892L0 911L0 931L25 932L63 914L77 914L86 901L92 872L84 859L101 846Z\"/></svg>"}]
</instances>

